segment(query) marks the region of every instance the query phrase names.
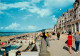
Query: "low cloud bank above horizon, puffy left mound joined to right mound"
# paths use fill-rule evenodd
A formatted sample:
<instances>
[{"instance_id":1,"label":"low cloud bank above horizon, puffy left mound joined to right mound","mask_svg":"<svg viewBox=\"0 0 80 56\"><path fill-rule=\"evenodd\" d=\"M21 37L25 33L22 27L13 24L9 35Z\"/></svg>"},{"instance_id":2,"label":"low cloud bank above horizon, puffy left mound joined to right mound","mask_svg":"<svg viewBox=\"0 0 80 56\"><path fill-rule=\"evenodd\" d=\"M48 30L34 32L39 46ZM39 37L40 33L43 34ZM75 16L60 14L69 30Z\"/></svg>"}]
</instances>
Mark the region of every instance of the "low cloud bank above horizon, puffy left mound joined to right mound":
<instances>
[{"instance_id":1,"label":"low cloud bank above horizon, puffy left mound joined to right mound","mask_svg":"<svg viewBox=\"0 0 80 56\"><path fill-rule=\"evenodd\" d=\"M11 25L5 27L5 30L17 30L17 31L35 31L38 27L34 25L30 25L27 27L21 27L18 23L12 23ZM1 29L1 28L0 28Z\"/></svg>"}]
</instances>

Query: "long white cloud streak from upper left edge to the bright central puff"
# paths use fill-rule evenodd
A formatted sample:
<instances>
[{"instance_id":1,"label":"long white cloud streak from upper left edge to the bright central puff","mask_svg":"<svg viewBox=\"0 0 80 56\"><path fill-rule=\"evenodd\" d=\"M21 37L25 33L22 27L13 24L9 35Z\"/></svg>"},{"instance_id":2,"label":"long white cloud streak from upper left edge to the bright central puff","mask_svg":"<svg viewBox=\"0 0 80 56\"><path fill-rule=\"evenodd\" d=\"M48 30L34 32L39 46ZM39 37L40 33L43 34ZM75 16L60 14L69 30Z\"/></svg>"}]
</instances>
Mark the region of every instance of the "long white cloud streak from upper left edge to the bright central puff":
<instances>
[{"instance_id":1,"label":"long white cloud streak from upper left edge to the bright central puff","mask_svg":"<svg viewBox=\"0 0 80 56\"><path fill-rule=\"evenodd\" d=\"M32 1L36 1L36 0L32 0ZM39 1L36 1L36 2L39 2ZM36 7L36 5L30 4L29 2L17 2L17 3L13 3L13 4L0 3L0 5L1 5L0 10L7 10L7 9L11 9L11 8L20 8L20 10L29 10L31 13L36 13L36 14L40 15L41 17L50 15L49 9L46 9L46 8L40 9L40 8Z\"/></svg>"}]
</instances>

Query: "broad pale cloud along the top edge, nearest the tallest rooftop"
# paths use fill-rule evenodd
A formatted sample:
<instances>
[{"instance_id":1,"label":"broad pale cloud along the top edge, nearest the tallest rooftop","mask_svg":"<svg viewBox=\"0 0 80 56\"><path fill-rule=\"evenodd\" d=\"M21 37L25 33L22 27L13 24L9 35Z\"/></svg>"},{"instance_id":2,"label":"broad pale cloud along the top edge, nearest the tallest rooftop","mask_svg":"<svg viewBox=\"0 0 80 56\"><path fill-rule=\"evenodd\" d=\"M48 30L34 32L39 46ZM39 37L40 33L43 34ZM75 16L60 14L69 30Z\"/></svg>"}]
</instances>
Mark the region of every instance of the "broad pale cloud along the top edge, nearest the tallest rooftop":
<instances>
[{"instance_id":1,"label":"broad pale cloud along the top edge, nearest the tallest rooftop","mask_svg":"<svg viewBox=\"0 0 80 56\"><path fill-rule=\"evenodd\" d=\"M75 0L45 0L44 6L46 7L65 7L73 4Z\"/></svg>"}]
</instances>

